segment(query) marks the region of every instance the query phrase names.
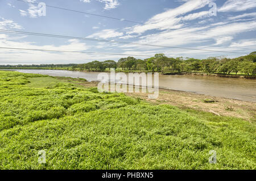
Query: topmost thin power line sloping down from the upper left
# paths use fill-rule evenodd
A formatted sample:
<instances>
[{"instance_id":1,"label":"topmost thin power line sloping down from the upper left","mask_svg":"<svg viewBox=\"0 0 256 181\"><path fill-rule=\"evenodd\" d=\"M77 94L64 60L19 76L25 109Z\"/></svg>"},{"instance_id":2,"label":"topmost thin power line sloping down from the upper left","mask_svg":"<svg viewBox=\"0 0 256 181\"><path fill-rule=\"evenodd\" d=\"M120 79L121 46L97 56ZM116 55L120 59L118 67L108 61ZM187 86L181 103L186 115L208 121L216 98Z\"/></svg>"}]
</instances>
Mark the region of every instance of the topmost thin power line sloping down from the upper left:
<instances>
[{"instance_id":1,"label":"topmost thin power line sloping down from the upper left","mask_svg":"<svg viewBox=\"0 0 256 181\"><path fill-rule=\"evenodd\" d=\"M27 1L23 1L23 0L16 0L16 1L24 2L24 3L31 3L31 4L34 4L34 5L39 5L39 3L36 3L36 2L27 2ZM144 23L135 22L135 21L133 21L133 20L127 20L127 19L122 19L122 18L114 18L114 17L111 17L111 16L99 15L99 14L94 14L94 13L90 13L90 12L78 11L78 10L71 10L71 9L66 9L66 8L57 7L57 6L49 6L49 5L46 5L46 6L47 6L47 7L54 8L54 9L60 9L60 10L72 11L72 12L79 12L79 13L86 14L86 15L98 16L98 17L100 17L100 18L108 18L108 19L119 20L119 21L122 21L122 22L129 22L129 23L135 23L135 24L144 25ZM154 24L152 24L152 23L149 23L149 24L150 24L151 26L154 26L154 27L157 27L157 28L166 28L166 27L156 26L156 25L154 25ZM166 28L166 29L167 29L167 30L176 30L176 29L171 29L171 28ZM216 38L219 38L219 39L227 39L227 38L228 38L228 37L213 36L213 35L207 35L207 34L204 34L204 33L197 33L197 32L191 32L191 31L184 31L184 30L179 30L179 31L187 32L187 33L192 33L192 34L197 34L197 35L204 35L204 36L209 36L209 37L216 37ZM238 39L233 39L233 40L238 40ZM238 40L238 41L239 41L239 40Z\"/></svg>"}]
</instances>

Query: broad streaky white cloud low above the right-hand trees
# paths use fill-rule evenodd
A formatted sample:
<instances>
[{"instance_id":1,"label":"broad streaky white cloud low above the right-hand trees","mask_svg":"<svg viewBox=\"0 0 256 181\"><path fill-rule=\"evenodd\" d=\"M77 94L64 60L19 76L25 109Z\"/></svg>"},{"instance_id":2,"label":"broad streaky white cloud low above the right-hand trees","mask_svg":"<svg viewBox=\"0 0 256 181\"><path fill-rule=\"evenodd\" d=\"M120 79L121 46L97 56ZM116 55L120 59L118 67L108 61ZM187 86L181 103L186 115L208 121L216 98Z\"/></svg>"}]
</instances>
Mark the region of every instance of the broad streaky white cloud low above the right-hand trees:
<instances>
[{"instance_id":1,"label":"broad streaky white cloud low above the right-hand trees","mask_svg":"<svg viewBox=\"0 0 256 181\"><path fill-rule=\"evenodd\" d=\"M255 31L256 22L243 22L243 23L230 23L230 24L219 24L216 26L204 26L200 28L182 28L180 30L167 30L159 33L154 33L146 36L141 36L139 41L135 43L141 44L152 44L152 45L162 45L167 47L190 47L190 48L200 48L203 49L213 49L213 50L226 50L226 51L241 51L241 49L235 47L229 47L231 41L239 33ZM190 33L192 32L192 33ZM219 38L216 38L219 37ZM216 43L212 43L215 41ZM205 47L203 47L203 45ZM255 46L255 45L254 45ZM156 47L142 47L140 45L127 44L121 45L121 48L133 48L139 50L156 50ZM166 49L168 52L176 52L181 54L187 54L191 56L197 54L203 56L202 51L199 50L182 50L175 48L162 48ZM162 52L159 48L159 52ZM218 54L216 52L203 52L206 54ZM246 53L245 53L246 54Z\"/></svg>"}]
</instances>

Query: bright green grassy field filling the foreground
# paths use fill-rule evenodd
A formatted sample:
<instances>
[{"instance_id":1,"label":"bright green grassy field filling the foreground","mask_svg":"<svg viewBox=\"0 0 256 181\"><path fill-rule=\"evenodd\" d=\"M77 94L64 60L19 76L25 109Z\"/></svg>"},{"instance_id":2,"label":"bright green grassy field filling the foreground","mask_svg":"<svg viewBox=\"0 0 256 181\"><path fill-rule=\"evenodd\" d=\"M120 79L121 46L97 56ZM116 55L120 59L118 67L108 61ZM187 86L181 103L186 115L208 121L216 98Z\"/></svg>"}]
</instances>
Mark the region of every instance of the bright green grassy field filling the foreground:
<instances>
[{"instance_id":1,"label":"bright green grassy field filling the foreground","mask_svg":"<svg viewBox=\"0 0 256 181\"><path fill-rule=\"evenodd\" d=\"M0 71L0 169L256 169L255 122L84 82Z\"/></svg>"}]
</instances>

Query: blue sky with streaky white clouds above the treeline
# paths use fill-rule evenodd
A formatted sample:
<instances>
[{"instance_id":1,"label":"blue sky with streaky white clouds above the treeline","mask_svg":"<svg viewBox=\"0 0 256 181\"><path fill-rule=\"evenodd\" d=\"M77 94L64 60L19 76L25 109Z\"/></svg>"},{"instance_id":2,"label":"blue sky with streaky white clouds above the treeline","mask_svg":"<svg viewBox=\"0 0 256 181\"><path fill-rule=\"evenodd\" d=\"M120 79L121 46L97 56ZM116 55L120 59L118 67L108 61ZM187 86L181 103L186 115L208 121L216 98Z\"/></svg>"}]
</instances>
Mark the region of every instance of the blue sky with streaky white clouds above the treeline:
<instances>
[{"instance_id":1,"label":"blue sky with streaky white clouds above the treeline","mask_svg":"<svg viewBox=\"0 0 256 181\"><path fill-rule=\"evenodd\" d=\"M168 57L225 56L234 58L256 50L255 0L23 1L26 2L0 1L0 47L131 54L135 55L135 58L142 59L147 56L152 57L156 53L164 53ZM41 6L38 6L37 3ZM42 3L46 5L45 11ZM56 9L50 6L116 19ZM1 30L48 33L138 44L22 35L1 32ZM122 57L127 56L0 48L0 64L2 65L81 64L94 60L118 61Z\"/></svg>"}]
</instances>

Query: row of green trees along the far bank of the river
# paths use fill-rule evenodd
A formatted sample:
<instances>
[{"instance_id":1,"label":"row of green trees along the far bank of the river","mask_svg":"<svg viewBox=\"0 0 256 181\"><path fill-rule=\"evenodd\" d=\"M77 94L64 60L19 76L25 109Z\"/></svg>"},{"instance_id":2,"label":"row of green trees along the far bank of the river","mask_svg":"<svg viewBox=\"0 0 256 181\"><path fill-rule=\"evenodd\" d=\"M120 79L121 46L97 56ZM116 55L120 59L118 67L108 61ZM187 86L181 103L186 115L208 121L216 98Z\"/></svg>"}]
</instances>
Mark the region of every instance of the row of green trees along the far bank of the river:
<instances>
[{"instance_id":1,"label":"row of green trees along the far bank of the river","mask_svg":"<svg viewBox=\"0 0 256 181\"><path fill-rule=\"evenodd\" d=\"M68 70L105 71L112 68L129 71L158 71L158 72L198 72L201 73L242 73L256 74L256 52L237 58L209 57L203 60L183 57L167 57L155 54L144 60L134 57L120 58L118 62L106 60L92 61L86 64L42 64L42 65L1 65L0 68L53 68Z\"/></svg>"}]
</instances>

